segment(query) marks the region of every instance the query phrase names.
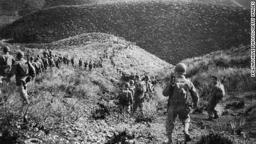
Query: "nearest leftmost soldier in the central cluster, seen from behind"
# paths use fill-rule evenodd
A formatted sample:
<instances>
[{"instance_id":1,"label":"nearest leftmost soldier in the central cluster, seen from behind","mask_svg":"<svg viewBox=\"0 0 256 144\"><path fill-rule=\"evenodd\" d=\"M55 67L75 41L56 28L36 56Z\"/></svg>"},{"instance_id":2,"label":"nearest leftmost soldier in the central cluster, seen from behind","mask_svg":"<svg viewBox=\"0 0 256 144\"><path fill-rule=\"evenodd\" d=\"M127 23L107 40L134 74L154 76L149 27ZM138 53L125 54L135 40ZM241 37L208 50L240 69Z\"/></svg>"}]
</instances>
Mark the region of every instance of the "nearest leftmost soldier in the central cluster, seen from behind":
<instances>
[{"instance_id":1,"label":"nearest leftmost soldier in the central cluster, seen from behind","mask_svg":"<svg viewBox=\"0 0 256 144\"><path fill-rule=\"evenodd\" d=\"M125 88L124 90L120 93L119 95L119 102L121 105L121 110L126 111L126 112L131 112L131 107L133 103L133 96L132 92L129 90L129 83L125 83Z\"/></svg>"}]
</instances>

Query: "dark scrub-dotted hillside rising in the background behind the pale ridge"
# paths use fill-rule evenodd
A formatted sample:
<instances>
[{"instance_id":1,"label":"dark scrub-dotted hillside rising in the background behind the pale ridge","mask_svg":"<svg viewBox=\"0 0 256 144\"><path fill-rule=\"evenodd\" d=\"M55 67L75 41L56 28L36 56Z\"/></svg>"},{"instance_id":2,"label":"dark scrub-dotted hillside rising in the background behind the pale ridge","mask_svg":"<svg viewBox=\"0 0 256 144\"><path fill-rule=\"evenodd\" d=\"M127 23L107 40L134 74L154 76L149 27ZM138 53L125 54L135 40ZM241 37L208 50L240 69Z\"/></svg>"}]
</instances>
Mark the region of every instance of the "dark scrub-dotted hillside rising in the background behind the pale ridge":
<instances>
[{"instance_id":1,"label":"dark scrub-dotted hillside rising in the background behind the pale ridge","mask_svg":"<svg viewBox=\"0 0 256 144\"><path fill-rule=\"evenodd\" d=\"M0 37L14 38L15 42L48 43L88 32L122 36L176 63L240 43L247 44L249 11L176 2L53 7L3 27Z\"/></svg>"}]
</instances>

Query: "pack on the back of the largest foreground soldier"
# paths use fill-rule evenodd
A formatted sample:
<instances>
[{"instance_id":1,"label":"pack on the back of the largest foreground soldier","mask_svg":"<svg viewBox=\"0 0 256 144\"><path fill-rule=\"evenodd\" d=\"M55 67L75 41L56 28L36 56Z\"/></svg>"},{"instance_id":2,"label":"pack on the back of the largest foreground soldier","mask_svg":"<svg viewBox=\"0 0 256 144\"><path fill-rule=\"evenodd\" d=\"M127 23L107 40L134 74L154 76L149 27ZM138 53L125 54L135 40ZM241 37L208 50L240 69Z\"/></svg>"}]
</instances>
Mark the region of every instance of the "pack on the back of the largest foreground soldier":
<instances>
[{"instance_id":1,"label":"pack on the back of the largest foreground soldier","mask_svg":"<svg viewBox=\"0 0 256 144\"><path fill-rule=\"evenodd\" d=\"M189 104L189 93L188 93L188 82L185 78L178 79L175 81L173 87L173 95L171 101L175 105L188 105Z\"/></svg>"}]
</instances>

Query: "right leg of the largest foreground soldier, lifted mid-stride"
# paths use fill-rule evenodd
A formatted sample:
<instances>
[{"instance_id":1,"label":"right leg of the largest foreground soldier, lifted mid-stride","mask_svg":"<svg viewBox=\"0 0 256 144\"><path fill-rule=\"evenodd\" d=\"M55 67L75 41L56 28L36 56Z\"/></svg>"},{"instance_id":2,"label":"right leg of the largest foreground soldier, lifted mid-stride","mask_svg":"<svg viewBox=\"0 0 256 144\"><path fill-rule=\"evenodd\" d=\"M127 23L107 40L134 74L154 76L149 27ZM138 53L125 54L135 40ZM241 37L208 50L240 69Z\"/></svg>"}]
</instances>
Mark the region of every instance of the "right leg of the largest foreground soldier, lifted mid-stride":
<instances>
[{"instance_id":1,"label":"right leg of the largest foreground soldier, lifted mid-stride","mask_svg":"<svg viewBox=\"0 0 256 144\"><path fill-rule=\"evenodd\" d=\"M189 125L190 125L190 116L189 113L191 111L191 107L185 107L183 110L179 111L179 118L183 122L184 125L184 135L185 141L191 141L189 135Z\"/></svg>"}]
</instances>

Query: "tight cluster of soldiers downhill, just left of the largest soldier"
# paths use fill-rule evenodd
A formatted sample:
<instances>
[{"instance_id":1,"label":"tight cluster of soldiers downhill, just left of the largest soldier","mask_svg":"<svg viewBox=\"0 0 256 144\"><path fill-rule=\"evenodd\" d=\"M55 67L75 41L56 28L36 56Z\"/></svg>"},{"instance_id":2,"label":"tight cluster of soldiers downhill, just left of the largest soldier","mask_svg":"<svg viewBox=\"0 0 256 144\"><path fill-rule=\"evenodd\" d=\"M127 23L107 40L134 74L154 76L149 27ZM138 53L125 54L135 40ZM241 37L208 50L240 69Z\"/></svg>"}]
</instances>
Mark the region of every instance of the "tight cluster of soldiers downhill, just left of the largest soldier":
<instances>
[{"instance_id":1,"label":"tight cluster of soldiers downhill, just left of the largest soldier","mask_svg":"<svg viewBox=\"0 0 256 144\"><path fill-rule=\"evenodd\" d=\"M141 79L137 73L134 75L134 73L131 72L129 75L119 68L116 68L116 72L121 75L121 85L123 85L123 90L119 95L121 110L133 115L139 107L140 113L143 113L142 103L152 98L152 93L154 93L154 87L157 83L155 77L152 77L154 79L151 81L150 77L147 75L142 76L143 78Z\"/></svg>"}]
</instances>

